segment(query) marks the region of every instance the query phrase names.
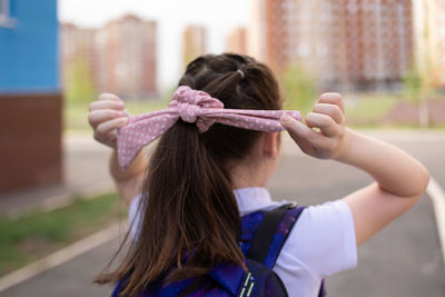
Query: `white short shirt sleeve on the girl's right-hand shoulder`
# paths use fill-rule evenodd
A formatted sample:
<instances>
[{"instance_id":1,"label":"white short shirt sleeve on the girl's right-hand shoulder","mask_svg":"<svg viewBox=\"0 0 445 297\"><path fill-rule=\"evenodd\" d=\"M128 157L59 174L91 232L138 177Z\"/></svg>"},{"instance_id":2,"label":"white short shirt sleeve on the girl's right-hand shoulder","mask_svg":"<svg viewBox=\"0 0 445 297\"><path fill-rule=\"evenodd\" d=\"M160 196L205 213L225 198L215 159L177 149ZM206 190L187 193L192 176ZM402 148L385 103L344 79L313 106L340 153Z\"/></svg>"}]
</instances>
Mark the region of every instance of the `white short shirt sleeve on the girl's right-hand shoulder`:
<instances>
[{"instance_id":1,"label":"white short shirt sleeve on the girl's right-hand shoulder","mask_svg":"<svg viewBox=\"0 0 445 297\"><path fill-rule=\"evenodd\" d=\"M354 219L342 200L307 207L283 247L318 277L357 266Z\"/></svg>"}]
</instances>

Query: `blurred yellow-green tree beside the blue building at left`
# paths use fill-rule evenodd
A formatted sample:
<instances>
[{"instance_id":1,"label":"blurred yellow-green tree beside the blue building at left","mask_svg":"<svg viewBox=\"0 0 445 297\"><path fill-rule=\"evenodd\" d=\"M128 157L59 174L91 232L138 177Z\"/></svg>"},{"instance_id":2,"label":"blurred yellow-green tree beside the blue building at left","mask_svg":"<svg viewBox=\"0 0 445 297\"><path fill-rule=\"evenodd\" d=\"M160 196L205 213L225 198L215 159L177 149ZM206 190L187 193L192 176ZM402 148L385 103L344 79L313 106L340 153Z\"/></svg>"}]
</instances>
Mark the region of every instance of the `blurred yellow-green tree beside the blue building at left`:
<instances>
[{"instance_id":1,"label":"blurred yellow-green tree beside the blue building at left","mask_svg":"<svg viewBox=\"0 0 445 297\"><path fill-rule=\"evenodd\" d=\"M65 97L69 103L87 103L96 98L91 72L83 59L72 61L67 69Z\"/></svg>"}]
</instances>

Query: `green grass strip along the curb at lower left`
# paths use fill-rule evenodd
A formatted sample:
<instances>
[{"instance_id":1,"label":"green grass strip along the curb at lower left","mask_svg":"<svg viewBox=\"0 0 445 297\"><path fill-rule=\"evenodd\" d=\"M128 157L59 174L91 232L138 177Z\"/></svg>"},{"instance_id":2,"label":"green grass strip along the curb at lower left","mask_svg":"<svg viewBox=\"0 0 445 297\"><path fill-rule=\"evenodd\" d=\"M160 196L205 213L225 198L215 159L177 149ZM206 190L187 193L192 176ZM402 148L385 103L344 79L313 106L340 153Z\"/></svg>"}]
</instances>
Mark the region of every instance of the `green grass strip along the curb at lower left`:
<instances>
[{"instance_id":1,"label":"green grass strip along the curb at lower left","mask_svg":"<svg viewBox=\"0 0 445 297\"><path fill-rule=\"evenodd\" d=\"M116 194L78 197L70 206L0 217L0 276L122 219L126 207Z\"/></svg>"}]
</instances>

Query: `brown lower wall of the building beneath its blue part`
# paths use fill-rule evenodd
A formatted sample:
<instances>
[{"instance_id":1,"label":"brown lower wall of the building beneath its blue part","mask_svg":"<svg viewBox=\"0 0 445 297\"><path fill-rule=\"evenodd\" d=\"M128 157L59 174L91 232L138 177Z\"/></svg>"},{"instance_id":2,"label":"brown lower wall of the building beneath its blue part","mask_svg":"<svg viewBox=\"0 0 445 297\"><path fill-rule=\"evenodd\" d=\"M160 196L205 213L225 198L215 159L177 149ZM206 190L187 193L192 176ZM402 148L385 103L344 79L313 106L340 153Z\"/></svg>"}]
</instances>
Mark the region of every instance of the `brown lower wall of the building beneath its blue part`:
<instances>
[{"instance_id":1,"label":"brown lower wall of the building beneath its blue part","mask_svg":"<svg viewBox=\"0 0 445 297\"><path fill-rule=\"evenodd\" d=\"M0 95L0 192L62 180L60 93Z\"/></svg>"}]
</instances>

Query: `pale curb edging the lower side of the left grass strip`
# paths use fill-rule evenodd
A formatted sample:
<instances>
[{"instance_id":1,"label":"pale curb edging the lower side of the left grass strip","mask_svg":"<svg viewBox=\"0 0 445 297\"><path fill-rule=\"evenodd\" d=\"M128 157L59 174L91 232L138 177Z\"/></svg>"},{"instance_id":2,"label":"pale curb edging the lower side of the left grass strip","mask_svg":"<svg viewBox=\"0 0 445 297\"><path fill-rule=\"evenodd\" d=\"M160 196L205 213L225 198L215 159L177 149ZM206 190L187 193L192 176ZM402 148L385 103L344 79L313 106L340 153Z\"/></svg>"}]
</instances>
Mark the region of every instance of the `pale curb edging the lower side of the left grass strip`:
<instances>
[{"instance_id":1,"label":"pale curb edging the lower side of the left grass strip","mask_svg":"<svg viewBox=\"0 0 445 297\"><path fill-rule=\"evenodd\" d=\"M128 225L126 222L116 222L105 230L80 239L79 241L62 248L43 259L37 260L19 270L1 277L0 293L118 237L119 230L127 227Z\"/></svg>"}]
</instances>

